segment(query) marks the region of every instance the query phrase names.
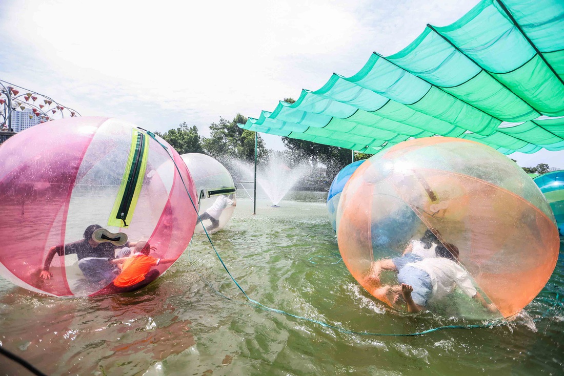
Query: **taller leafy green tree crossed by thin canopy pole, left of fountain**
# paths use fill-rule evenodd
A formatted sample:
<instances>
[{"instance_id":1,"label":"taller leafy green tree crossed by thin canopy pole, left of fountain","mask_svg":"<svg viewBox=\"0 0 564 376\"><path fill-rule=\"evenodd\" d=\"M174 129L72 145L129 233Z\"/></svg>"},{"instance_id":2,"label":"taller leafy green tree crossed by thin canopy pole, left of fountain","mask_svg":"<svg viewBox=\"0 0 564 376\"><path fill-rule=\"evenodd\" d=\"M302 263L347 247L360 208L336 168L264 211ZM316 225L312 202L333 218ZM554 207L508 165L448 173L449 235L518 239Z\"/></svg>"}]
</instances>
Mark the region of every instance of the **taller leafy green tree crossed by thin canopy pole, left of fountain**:
<instances>
[{"instance_id":1,"label":"taller leafy green tree crossed by thin canopy pole, left of fountain","mask_svg":"<svg viewBox=\"0 0 564 376\"><path fill-rule=\"evenodd\" d=\"M232 121L220 117L219 122L211 123L210 136L202 139L206 153L219 161L226 161L228 157L254 161L255 132L237 126L237 123L244 124L246 121L247 118L238 113ZM263 160L268 155L265 141L260 135L257 154L258 160Z\"/></svg>"}]
</instances>

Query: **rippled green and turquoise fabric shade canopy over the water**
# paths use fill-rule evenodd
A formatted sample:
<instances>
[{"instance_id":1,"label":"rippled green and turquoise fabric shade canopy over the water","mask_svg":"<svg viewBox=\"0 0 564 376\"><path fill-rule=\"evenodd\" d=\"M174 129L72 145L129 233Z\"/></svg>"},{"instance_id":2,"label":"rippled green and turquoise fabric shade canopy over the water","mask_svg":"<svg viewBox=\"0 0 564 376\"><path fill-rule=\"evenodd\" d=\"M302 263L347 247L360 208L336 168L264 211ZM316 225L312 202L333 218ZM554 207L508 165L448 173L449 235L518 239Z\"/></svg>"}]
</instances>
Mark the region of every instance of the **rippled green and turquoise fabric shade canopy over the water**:
<instances>
[{"instance_id":1,"label":"rippled green and turquoise fabric shade canopy over the water","mask_svg":"<svg viewBox=\"0 0 564 376\"><path fill-rule=\"evenodd\" d=\"M354 76L333 74L239 126L365 153L440 135L510 154L564 150L562 116L564 2L482 0L397 54L374 52Z\"/></svg>"}]
</instances>

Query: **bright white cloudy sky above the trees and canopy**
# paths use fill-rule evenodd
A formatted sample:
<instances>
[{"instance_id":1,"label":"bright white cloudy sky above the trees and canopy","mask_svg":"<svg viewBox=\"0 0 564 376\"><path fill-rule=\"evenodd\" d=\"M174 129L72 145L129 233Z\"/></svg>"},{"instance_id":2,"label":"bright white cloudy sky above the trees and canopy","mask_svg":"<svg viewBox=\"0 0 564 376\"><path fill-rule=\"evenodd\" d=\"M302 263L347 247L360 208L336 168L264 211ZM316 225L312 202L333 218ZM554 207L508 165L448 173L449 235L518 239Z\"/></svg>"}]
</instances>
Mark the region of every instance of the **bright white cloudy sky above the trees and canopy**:
<instances>
[{"instance_id":1,"label":"bright white cloudy sky above the trees and canopy","mask_svg":"<svg viewBox=\"0 0 564 376\"><path fill-rule=\"evenodd\" d=\"M149 130L186 121L200 134L236 113L350 76L372 51L393 54L427 23L447 25L478 0L0 0L0 78L82 116ZM267 147L280 138L262 134ZM510 156L564 167L564 152Z\"/></svg>"}]
</instances>

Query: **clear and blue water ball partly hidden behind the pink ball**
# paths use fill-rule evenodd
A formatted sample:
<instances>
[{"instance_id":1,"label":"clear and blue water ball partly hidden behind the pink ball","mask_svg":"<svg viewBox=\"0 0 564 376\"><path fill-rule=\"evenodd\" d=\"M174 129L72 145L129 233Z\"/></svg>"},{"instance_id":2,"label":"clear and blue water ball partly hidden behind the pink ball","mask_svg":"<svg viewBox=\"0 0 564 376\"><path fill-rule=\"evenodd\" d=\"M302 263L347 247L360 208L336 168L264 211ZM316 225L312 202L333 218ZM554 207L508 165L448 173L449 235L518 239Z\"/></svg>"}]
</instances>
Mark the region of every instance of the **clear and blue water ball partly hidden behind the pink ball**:
<instances>
[{"instance_id":1,"label":"clear and blue water ball partly hidden behind the pink ball","mask_svg":"<svg viewBox=\"0 0 564 376\"><path fill-rule=\"evenodd\" d=\"M206 154L188 153L180 157L196 184L199 214L206 231L214 233L221 230L229 222L237 205L231 174L221 163ZM204 233L201 223L196 224L195 232Z\"/></svg>"}]
</instances>

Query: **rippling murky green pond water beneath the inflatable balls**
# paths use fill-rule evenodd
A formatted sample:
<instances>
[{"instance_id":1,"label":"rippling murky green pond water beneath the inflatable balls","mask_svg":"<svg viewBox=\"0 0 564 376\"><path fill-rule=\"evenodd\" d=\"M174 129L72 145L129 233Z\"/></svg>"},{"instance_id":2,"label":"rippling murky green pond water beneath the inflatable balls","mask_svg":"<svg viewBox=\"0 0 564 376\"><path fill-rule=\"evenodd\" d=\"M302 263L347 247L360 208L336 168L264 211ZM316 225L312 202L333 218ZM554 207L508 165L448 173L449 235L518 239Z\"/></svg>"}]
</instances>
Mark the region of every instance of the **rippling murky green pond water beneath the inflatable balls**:
<instances>
[{"instance_id":1,"label":"rippling murky green pond water beneath the inflatable balls","mask_svg":"<svg viewBox=\"0 0 564 376\"><path fill-rule=\"evenodd\" d=\"M395 312L364 291L342 262L308 262L338 254L324 199L290 192L279 208L259 201L256 216L243 199L213 235L250 297L358 331L477 323ZM205 236L196 236L189 253L136 293L58 299L0 280L0 340L47 374L562 374L564 309L551 307L563 286L561 254L547 287L507 325L421 337L345 334L244 304ZM25 374L6 359L0 368Z\"/></svg>"}]
</instances>

